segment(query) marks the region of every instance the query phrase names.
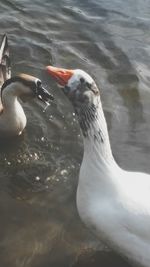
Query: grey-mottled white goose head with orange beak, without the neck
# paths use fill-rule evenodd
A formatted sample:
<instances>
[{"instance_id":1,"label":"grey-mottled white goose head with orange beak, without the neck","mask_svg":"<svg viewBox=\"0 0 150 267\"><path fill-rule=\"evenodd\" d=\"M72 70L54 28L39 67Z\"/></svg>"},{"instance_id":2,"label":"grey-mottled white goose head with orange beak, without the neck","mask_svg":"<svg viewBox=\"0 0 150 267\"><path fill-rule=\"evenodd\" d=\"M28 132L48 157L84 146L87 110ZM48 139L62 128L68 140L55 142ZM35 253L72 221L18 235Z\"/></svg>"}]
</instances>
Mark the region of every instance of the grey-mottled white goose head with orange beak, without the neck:
<instances>
[{"instance_id":1,"label":"grey-mottled white goose head with orange beak, without the neck","mask_svg":"<svg viewBox=\"0 0 150 267\"><path fill-rule=\"evenodd\" d=\"M93 78L83 70L67 70L52 66L46 67L48 73L62 87L77 113L81 109L96 105L99 90Z\"/></svg>"}]
</instances>

